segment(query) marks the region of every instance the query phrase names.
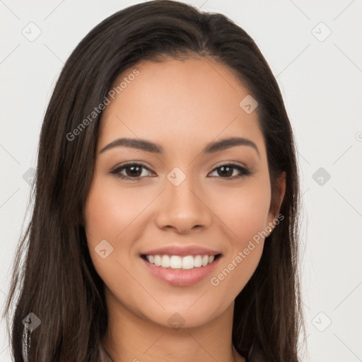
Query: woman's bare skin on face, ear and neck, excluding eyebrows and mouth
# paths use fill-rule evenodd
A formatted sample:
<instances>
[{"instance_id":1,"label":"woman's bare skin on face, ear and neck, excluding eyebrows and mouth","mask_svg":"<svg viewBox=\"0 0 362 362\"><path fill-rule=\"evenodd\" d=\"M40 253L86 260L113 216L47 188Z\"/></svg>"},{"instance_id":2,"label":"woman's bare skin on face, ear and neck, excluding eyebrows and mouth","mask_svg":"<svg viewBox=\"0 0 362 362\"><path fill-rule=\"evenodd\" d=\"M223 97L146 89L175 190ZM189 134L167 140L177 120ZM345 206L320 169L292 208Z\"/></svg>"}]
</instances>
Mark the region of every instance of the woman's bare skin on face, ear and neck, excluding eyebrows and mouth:
<instances>
[{"instance_id":1,"label":"woman's bare skin on face, ear and neck, excluding eyebrows and mouth","mask_svg":"<svg viewBox=\"0 0 362 362\"><path fill-rule=\"evenodd\" d=\"M211 60L141 62L134 68L139 76L103 111L84 214L91 258L105 282L109 327L103 348L115 362L245 361L231 341L234 299L257 268L264 239L218 286L210 279L276 220L257 112L247 114L239 106L247 88ZM259 156L250 146L200 153L209 142L230 136L252 140ZM119 137L156 142L165 153L124 146L100 153ZM130 161L148 168L141 168L141 179L110 173ZM230 161L252 175L233 180L240 175L236 168L229 176L218 172ZM167 178L175 167L186 175L177 187ZM121 173L134 177L129 168ZM285 177L279 185L280 206ZM113 247L105 259L95 252L103 239ZM156 279L139 257L171 244L202 245L222 257L216 271L197 284L171 286ZM185 322L180 329L169 325L174 313Z\"/></svg>"}]
</instances>

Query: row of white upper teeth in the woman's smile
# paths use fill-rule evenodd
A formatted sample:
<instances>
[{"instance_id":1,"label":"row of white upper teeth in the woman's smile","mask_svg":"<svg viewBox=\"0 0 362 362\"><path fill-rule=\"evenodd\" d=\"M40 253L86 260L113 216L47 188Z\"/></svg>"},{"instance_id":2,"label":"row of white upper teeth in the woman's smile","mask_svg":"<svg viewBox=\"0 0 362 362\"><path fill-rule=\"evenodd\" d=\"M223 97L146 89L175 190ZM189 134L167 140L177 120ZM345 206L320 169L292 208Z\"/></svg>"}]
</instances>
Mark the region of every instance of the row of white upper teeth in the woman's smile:
<instances>
[{"instance_id":1,"label":"row of white upper teeth in the woman's smile","mask_svg":"<svg viewBox=\"0 0 362 362\"><path fill-rule=\"evenodd\" d=\"M171 269L192 269L199 267L206 267L207 264L214 262L214 255L187 255L187 257L180 257L178 255L146 255L146 259L156 267L163 267Z\"/></svg>"}]
</instances>

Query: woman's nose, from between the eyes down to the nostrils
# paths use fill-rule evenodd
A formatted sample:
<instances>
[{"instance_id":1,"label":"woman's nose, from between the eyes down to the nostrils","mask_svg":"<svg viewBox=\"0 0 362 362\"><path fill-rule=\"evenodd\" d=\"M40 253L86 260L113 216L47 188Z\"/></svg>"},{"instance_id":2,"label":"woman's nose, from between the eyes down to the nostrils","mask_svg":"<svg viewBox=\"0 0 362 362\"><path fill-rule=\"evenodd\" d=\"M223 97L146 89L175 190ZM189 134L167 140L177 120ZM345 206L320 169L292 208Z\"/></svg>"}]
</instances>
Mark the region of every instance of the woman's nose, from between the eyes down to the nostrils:
<instances>
[{"instance_id":1,"label":"woman's nose, from between the eyes down to the nostrils","mask_svg":"<svg viewBox=\"0 0 362 362\"><path fill-rule=\"evenodd\" d=\"M166 180L159 202L156 222L160 229L185 234L211 225L212 212L207 206L207 197L191 177L186 177L178 186Z\"/></svg>"}]
</instances>

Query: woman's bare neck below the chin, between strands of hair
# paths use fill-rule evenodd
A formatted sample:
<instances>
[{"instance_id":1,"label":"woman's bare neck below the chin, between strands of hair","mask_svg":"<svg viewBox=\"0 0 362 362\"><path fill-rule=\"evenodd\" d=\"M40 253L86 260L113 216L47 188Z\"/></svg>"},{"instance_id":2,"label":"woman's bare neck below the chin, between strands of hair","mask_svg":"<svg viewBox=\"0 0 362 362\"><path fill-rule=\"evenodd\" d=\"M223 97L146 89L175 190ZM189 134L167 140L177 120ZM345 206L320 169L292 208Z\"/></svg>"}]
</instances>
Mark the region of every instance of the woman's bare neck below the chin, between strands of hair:
<instances>
[{"instance_id":1,"label":"woman's bare neck below the chin, between strands of hair","mask_svg":"<svg viewBox=\"0 0 362 362\"><path fill-rule=\"evenodd\" d=\"M113 362L245 362L233 348L233 304L204 325L180 329L146 320L105 288L108 329L101 344Z\"/></svg>"}]
</instances>

